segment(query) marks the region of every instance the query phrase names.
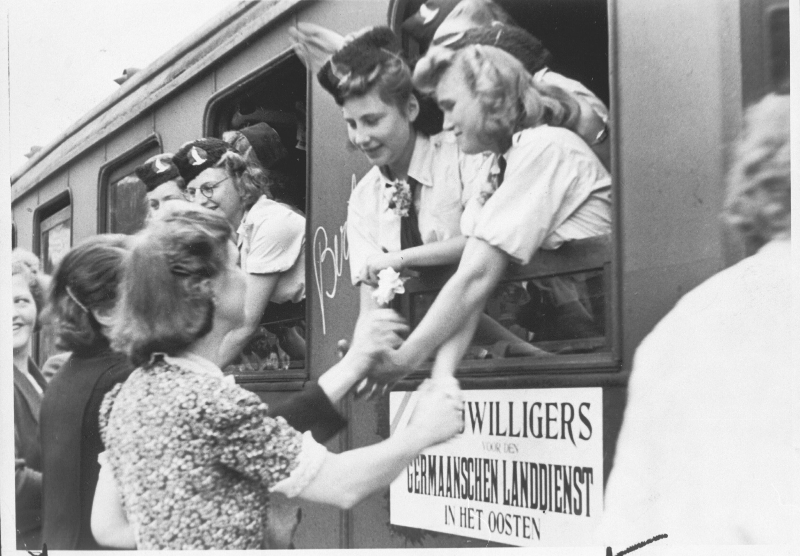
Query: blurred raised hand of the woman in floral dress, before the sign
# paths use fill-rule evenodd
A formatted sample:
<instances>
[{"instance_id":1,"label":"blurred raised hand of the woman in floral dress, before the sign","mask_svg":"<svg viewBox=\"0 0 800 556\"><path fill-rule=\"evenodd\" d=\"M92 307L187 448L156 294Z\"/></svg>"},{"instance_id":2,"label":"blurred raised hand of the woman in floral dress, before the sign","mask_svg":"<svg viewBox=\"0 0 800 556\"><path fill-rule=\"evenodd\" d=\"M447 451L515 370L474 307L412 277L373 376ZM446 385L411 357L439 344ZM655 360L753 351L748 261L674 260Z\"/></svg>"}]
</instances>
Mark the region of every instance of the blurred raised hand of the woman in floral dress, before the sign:
<instances>
[{"instance_id":1,"label":"blurred raised hand of the woman in floral dress, before the sign","mask_svg":"<svg viewBox=\"0 0 800 556\"><path fill-rule=\"evenodd\" d=\"M418 437L423 450L464 430L464 398L455 378L426 380L417 391L419 399L407 430Z\"/></svg>"}]
</instances>

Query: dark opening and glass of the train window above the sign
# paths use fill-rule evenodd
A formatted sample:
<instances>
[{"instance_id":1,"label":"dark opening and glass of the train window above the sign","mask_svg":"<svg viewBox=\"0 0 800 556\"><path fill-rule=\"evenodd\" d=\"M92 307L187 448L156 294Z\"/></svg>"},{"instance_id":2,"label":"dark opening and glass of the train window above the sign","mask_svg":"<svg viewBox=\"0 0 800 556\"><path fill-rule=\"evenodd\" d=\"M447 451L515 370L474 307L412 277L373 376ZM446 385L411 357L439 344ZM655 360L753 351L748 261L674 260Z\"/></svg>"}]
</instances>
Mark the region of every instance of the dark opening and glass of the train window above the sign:
<instances>
[{"instance_id":1,"label":"dark opening and glass of the train window above the sign","mask_svg":"<svg viewBox=\"0 0 800 556\"><path fill-rule=\"evenodd\" d=\"M580 82L609 106L608 6L605 0L495 0L518 26L550 51L549 69ZM420 7L422 10L420 10ZM450 2L397 0L390 25L406 54L424 54L433 21ZM414 32L402 23L415 18ZM406 26L406 29L408 26ZM414 36L412 36L414 35ZM430 35L430 36L429 36ZM541 368L607 368L616 365L613 234L539 250L526 266L511 265L490 295L462 370L521 372ZM417 326L453 269L421 270L406 282L397 308Z\"/></svg>"}]
</instances>

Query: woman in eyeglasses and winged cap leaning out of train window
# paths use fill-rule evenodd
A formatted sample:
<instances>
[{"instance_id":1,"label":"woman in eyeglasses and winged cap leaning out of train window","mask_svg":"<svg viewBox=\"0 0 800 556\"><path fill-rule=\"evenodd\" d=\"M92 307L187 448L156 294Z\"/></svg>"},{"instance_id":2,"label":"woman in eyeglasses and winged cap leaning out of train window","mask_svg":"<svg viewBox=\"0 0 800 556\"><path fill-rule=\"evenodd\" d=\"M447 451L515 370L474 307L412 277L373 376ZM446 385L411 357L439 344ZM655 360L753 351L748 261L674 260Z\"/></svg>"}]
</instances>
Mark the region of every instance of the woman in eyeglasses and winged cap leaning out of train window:
<instances>
[{"instance_id":1,"label":"woman in eyeglasses and winged cap leaning out of train window","mask_svg":"<svg viewBox=\"0 0 800 556\"><path fill-rule=\"evenodd\" d=\"M239 264L246 272L245 318L222 342L222 366L247 346L262 322L305 318L306 218L262 193L263 170L229 143L202 138L173 158L186 181L186 200L222 214L237 232ZM279 331L281 348L304 359L306 342L297 327Z\"/></svg>"}]
</instances>

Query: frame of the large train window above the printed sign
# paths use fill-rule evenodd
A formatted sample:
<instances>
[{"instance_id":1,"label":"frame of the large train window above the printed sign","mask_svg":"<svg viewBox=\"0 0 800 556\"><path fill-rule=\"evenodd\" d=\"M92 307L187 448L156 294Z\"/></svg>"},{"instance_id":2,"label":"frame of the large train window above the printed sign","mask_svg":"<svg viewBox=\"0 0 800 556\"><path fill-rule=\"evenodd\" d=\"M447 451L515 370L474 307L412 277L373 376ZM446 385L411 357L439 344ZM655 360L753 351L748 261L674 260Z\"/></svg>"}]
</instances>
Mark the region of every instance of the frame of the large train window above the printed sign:
<instances>
[{"instance_id":1,"label":"frame of the large train window above the printed sign","mask_svg":"<svg viewBox=\"0 0 800 556\"><path fill-rule=\"evenodd\" d=\"M410 17L411 14L406 13L409 10L411 0L390 0L387 10L387 22L391 29L397 33L402 39L402 45L406 54L412 55L418 53L419 46L414 38L410 38L407 34L402 33L401 24L405 18ZM615 18L614 2L606 2L607 21L608 21L608 98L609 106L618 106L618 91L616 89L617 83L614 79L614 72L612 69L615 67L616 50L617 50L617 34L613 22ZM599 95L598 95L599 96ZM619 206L618 194L618 176L620 172L620 164L618 158L618 116L615 111L610 110L608 128L610 131L611 141L611 169L612 176L612 224L611 233L607 238L606 246L606 262L602 265L602 272L605 278L604 291L606 294L606 314L605 314L605 339L607 350L597 353L589 354L559 354L555 358L489 358L481 360L468 360L463 359L458 366L459 378L466 379L467 383L476 385L491 386L495 382L502 382L504 384L516 383L516 379L521 379L525 382L531 376L546 375L550 377L559 377L564 374L613 374L618 375L622 372L622 280L620 279L620 269L622 268L621 261L621 222L619 215L621 214ZM556 251L557 252L557 251ZM554 252L555 253L555 252ZM549 257L546 254L545 257ZM531 270L536 266L542 265L541 254L534 255L534 259L529 265L519 267L515 265L510 266L510 270L506 271L506 275L502 278L502 282L510 282L514 280L521 280L530 277ZM596 270L596 269L586 269ZM414 278L406 282L406 294L398 302L398 309L406 316L410 316L410 300L409 295L417 293L416 290L420 288L417 282L427 282L425 287L430 287L434 283L438 283L439 288L446 282L444 276L449 277L454 272L454 267L450 269L437 269L423 271L419 278ZM427 274L427 275L426 275ZM557 275L557 274L549 274ZM548 276L543 274L540 277ZM430 374L432 362L426 362L414 370L401 386L401 389L413 387L414 384L426 378ZM509 382L511 381L511 382Z\"/></svg>"}]
</instances>

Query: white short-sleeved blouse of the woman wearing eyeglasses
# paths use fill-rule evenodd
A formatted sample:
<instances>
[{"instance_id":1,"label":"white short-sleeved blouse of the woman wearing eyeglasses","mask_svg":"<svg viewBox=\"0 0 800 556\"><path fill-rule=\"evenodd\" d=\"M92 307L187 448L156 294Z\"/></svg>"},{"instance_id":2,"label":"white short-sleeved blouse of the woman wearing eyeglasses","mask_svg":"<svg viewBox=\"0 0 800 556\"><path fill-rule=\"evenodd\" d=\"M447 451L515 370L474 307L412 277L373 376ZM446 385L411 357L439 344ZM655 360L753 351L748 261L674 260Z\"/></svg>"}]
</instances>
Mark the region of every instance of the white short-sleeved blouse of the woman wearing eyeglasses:
<instances>
[{"instance_id":1,"label":"white short-sleeved blouse of the woman wearing eyeglasses","mask_svg":"<svg viewBox=\"0 0 800 556\"><path fill-rule=\"evenodd\" d=\"M262 195L238 229L242 270L280 273L271 302L299 302L306 297L306 218Z\"/></svg>"}]
</instances>

